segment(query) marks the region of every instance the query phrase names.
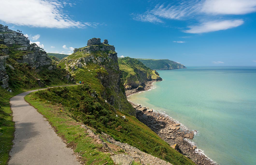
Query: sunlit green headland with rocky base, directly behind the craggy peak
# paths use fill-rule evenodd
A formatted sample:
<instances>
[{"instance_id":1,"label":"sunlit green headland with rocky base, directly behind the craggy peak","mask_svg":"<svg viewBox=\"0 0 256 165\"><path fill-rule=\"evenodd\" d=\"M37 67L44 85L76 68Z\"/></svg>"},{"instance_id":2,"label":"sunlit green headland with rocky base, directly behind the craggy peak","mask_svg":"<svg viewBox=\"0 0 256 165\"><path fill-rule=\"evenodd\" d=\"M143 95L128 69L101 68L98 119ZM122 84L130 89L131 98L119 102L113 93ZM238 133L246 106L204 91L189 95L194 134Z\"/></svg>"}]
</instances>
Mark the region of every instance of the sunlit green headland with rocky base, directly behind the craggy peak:
<instances>
[{"instance_id":1,"label":"sunlit green headland with rocky base, directly behind the craggy peak","mask_svg":"<svg viewBox=\"0 0 256 165\"><path fill-rule=\"evenodd\" d=\"M134 58L119 58L118 64L121 70L121 79L126 89L143 89L146 81L162 80L156 71Z\"/></svg>"}]
</instances>

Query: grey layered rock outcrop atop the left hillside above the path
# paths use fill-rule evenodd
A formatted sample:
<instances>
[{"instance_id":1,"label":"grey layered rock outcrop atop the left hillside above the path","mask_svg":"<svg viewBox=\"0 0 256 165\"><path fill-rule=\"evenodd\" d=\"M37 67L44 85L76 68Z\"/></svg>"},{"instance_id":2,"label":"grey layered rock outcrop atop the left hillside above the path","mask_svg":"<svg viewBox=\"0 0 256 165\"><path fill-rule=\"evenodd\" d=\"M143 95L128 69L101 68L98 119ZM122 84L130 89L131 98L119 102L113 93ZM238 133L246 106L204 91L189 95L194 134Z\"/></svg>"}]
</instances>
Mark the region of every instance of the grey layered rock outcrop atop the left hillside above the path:
<instances>
[{"instance_id":1,"label":"grey layered rock outcrop atop the left hillside above the path","mask_svg":"<svg viewBox=\"0 0 256 165\"><path fill-rule=\"evenodd\" d=\"M6 56L7 55L7 56ZM30 67L38 68L51 64L46 52L30 41L21 31L13 31L8 26L0 24L0 84L4 89L9 89L8 78L5 67L11 65L6 64L7 58L12 58L18 63L28 63Z\"/></svg>"}]
</instances>

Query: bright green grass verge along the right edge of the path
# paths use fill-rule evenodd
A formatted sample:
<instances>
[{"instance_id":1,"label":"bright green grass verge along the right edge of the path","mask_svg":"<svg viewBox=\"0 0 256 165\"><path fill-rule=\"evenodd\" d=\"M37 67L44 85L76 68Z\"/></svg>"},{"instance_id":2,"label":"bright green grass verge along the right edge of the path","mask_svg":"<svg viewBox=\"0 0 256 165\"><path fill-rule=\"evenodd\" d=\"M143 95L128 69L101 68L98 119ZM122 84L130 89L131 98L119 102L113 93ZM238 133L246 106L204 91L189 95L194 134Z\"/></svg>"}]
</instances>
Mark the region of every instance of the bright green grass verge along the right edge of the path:
<instances>
[{"instance_id":1,"label":"bright green grass verge along the right edge of the path","mask_svg":"<svg viewBox=\"0 0 256 165\"><path fill-rule=\"evenodd\" d=\"M105 162L114 164L110 154L100 151L102 145L94 143L93 138L87 136L85 129L80 127L81 123L70 117L72 114L69 111L59 106L39 102L30 97L31 95L33 94L27 95L25 100L38 109L39 113L45 115L51 126L57 130L58 136L65 139L67 143L75 145L74 152L80 153L85 164L101 165Z\"/></svg>"}]
</instances>

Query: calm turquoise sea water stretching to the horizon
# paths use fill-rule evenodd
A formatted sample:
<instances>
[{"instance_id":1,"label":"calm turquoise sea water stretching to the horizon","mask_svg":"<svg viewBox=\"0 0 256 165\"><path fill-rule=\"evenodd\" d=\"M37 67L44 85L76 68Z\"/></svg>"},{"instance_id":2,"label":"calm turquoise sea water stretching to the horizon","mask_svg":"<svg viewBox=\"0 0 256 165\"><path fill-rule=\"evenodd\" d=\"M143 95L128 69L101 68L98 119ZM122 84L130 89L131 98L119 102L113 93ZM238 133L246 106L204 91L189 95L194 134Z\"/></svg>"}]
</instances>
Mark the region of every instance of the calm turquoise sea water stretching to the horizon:
<instances>
[{"instance_id":1,"label":"calm turquoise sea water stretching to the horizon","mask_svg":"<svg viewBox=\"0 0 256 165\"><path fill-rule=\"evenodd\" d=\"M158 71L155 89L128 100L162 110L190 130L221 165L256 164L256 67L189 67Z\"/></svg>"}]
</instances>

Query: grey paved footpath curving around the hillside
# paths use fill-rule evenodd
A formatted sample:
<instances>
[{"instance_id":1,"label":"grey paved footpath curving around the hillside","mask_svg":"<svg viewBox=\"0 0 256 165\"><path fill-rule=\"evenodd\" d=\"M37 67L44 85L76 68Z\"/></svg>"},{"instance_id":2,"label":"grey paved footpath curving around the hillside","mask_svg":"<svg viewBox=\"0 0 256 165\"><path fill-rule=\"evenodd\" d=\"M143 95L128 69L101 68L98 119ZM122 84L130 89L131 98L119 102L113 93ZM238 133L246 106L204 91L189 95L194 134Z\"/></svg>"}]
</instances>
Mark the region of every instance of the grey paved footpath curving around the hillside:
<instances>
[{"instance_id":1,"label":"grey paved footpath curving around the hillside","mask_svg":"<svg viewBox=\"0 0 256 165\"><path fill-rule=\"evenodd\" d=\"M14 145L10 151L11 159L8 164L80 165L76 157L73 156L73 150L66 147L46 118L25 102L24 97L35 91L38 90L20 93L10 99L15 133Z\"/></svg>"}]
</instances>

